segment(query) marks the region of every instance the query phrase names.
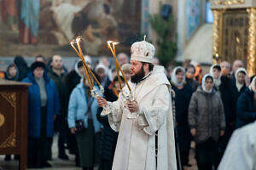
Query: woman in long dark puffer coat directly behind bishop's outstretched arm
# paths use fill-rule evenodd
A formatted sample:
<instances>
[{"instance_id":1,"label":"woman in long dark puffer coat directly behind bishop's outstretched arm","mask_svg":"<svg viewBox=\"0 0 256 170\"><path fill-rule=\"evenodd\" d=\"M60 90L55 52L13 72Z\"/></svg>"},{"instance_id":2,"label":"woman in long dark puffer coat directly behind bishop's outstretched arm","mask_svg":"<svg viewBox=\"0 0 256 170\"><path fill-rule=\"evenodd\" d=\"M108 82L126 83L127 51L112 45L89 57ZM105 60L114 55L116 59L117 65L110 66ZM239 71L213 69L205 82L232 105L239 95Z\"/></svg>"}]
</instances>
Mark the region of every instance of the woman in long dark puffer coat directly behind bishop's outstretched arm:
<instances>
[{"instance_id":1,"label":"woman in long dark puffer coat directly behind bishop's outstretched arm","mask_svg":"<svg viewBox=\"0 0 256 170\"><path fill-rule=\"evenodd\" d=\"M125 80L121 77L122 87L125 85ZM111 82L108 87L105 88L104 96L108 101L116 101L119 96L119 81L118 77L113 78L113 82ZM113 129L109 126L108 116L101 116L102 107L98 109L97 119L103 125L102 130L102 140L100 146L100 168L99 170L111 170L113 164L113 156L114 150L116 146L116 142L118 139L119 133L113 131Z\"/></svg>"}]
</instances>

